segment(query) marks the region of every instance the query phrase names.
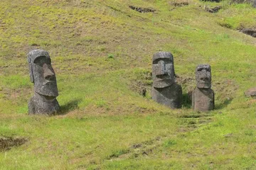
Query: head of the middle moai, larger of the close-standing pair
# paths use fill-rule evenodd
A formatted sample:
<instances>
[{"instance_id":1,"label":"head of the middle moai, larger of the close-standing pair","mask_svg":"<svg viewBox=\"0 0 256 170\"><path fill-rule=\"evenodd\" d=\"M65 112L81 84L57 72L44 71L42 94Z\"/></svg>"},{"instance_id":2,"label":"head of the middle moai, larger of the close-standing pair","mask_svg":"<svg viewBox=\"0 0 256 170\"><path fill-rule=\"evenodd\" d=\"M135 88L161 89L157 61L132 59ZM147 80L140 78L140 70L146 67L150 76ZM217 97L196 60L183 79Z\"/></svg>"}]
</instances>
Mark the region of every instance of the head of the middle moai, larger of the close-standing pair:
<instances>
[{"instance_id":1,"label":"head of the middle moai, larger of the close-standing pair","mask_svg":"<svg viewBox=\"0 0 256 170\"><path fill-rule=\"evenodd\" d=\"M170 52L156 52L152 63L153 86L164 88L174 84L174 57Z\"/></svg>"}]
</instances>

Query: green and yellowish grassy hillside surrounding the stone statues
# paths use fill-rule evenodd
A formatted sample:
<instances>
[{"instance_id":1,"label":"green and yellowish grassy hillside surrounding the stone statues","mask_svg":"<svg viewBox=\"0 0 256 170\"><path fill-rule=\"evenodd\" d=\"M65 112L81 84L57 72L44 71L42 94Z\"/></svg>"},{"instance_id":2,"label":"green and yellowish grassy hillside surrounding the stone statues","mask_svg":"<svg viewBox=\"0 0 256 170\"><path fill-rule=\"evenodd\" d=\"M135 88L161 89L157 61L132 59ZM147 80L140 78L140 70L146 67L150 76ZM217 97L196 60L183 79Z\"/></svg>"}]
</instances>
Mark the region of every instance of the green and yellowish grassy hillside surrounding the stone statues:
<instances>
[{"instance_id":1,"label":"green and yellowish grassy hillside surrounding the stone statues","mask_svg":"<svg viewBox=\"0 0 256 170\"><path fill-rule=\"evenodd\" d=\"M256 82L256 39L235 29L255 26L256 10L213 14L190 3L0 1L0 135L29 139L0 153L0 169L253 169L256 103L243 92ZM26 114L26 53L35 48L50 52L62 115ZM159 50L174 54L184 94L196 65L212 66L215 111L197 118L189 103L171 111L151 101Z\"/></svg>"}]
</instances>

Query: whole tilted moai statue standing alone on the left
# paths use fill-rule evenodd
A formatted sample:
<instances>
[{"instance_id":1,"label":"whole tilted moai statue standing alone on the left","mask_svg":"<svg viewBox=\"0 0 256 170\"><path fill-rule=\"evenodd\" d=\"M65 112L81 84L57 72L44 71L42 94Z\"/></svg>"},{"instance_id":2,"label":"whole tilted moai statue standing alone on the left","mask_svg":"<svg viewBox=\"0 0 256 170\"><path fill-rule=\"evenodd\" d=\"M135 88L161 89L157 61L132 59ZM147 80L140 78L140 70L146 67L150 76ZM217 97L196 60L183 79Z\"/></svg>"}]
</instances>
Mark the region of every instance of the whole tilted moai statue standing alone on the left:
<instances>
[{"instance_id":1,"label":"whole tilted moai statue standing alone on the left","mask_svg":"<svg viewBox=\"0 0 256 170\"><path fill-rule=\"evenodd\" d=\"M28 53L28 67L34 95L28 103L28 114L53 114L60 110L55 72L45 50Z\"/></svg>"}]
</instances>

